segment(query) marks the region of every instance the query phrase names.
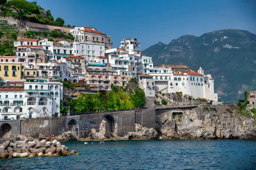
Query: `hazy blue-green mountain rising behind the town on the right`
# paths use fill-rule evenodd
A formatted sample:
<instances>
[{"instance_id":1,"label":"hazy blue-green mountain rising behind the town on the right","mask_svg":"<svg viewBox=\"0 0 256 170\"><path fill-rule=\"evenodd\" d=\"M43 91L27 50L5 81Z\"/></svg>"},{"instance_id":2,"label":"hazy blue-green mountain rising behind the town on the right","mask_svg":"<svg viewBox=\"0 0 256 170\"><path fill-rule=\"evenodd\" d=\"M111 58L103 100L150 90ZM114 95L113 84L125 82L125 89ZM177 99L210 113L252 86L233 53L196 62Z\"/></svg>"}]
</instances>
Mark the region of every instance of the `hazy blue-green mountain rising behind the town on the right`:
<instances>
[{"instance_id":1,"label":"hazy blue-green mountain rising behind the town on the right","mask_svg":"<svg viewBox=\"0 0 256 170\"><path fill-rule=\"evenodd\" d=\"M215 92L224 102L256 91L256 35L249 31L224 29L196 37L184 35L169 44L158 42L143 51L154 65L187 65L215 79Z\"/></svg>"}]
</instances>

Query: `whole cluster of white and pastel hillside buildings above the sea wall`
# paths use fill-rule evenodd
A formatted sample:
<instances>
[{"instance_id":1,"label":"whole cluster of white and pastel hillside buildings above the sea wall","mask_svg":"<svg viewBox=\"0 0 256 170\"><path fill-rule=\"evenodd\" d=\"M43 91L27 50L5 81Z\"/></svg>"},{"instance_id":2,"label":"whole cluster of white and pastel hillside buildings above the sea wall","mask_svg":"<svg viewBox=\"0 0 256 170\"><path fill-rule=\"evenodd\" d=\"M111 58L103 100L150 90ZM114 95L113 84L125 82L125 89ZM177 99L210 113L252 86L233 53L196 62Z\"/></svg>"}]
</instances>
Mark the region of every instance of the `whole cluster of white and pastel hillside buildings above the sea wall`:
<instances>
[{"instance_id":1,"label":"whole cluster of white and pastel hillside buildings above the sea wall","mask_svg":"<svg viewBox=\"0 0 256 170\"><path fill-rule=\"evenodd\" d=\"M18 37L16 55L0 57L0 119L58 117L65 95L111 91L112 84L125 86L134 77L149 99L159 92L182 92L218 102L214 79L201 67L193 71L186 65L154 65L136 38L124 38L113 48L111 36L96 28L69 31L73 42ZM62 82L86 82L87 88L64 94Z\"/></svg>"}]
</instances>

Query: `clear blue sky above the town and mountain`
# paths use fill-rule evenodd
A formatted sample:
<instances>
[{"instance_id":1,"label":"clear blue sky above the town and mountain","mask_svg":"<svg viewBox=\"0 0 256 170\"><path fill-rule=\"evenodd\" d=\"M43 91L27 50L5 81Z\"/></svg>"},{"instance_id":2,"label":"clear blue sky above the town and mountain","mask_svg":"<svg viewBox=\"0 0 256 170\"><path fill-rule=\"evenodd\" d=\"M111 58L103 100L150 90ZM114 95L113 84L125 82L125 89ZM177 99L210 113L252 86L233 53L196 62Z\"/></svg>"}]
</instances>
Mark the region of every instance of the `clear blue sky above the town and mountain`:
<instances>
[{"instance_id":1,"label":"clear blue sky above the town and mountain","mask_svg":"<svg viewBox=\"0 0 256 170\"><path fill-rule=\"evenodd\" d=\"M137 38L144 50L161 41L234 28L256 34L255 0L37 0L71 26L92 26L111 35L113 47Z\"/></svg>"}]
</instances>

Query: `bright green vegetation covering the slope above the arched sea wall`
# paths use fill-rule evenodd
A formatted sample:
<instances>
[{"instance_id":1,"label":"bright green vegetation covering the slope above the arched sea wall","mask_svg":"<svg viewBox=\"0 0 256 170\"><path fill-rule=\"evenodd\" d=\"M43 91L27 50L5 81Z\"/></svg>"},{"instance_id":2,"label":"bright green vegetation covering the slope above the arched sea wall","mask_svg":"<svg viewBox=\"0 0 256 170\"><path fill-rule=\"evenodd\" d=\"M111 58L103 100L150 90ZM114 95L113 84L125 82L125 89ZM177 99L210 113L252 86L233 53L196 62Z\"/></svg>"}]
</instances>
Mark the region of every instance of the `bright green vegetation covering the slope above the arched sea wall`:
<instances>
[{"instance_id":1,"label":"bright green vegetation covering the slope above the arched sea wall","mask_svg":"<svg viewBox=\"0 0 256 170\"><path fill-rule=\"evenodd\" d=\"M85 82L70 83L63 82L66 87L76 88L84 87L89 88ZM85 94L81 93L76 99L71 99L65 102L61 109L61 113L64 114L67 108L70 107L70 111L76 113L86 113L88 111L94 112L99 110L122 110L143 107L146 103L145 93L143 89L139 88L136 78L129 80L128 85L123 87L116 87L111 85L112 91L100 90L97 94Z\"/></svg>"}]
</instances>

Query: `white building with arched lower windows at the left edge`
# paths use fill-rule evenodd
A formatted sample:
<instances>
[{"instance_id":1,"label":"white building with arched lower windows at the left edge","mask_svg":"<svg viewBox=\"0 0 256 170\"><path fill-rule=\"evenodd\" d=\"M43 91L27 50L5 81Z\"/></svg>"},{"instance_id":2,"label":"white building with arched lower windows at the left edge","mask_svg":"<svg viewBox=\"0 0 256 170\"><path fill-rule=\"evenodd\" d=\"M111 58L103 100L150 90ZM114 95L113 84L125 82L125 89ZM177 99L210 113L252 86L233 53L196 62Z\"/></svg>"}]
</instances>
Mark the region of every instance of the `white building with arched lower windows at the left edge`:
<instances>
[{"instance_id":1,"label":"white building with arched lower windows at the left edge","mask_svg":"<svg viewBox=\"0 0 256 170\"><path fill-rule=\"evenodd\" d=\"M26 99L22 81L0 86L0 120L23 119Z\"/></svg>"}]
</instances>

